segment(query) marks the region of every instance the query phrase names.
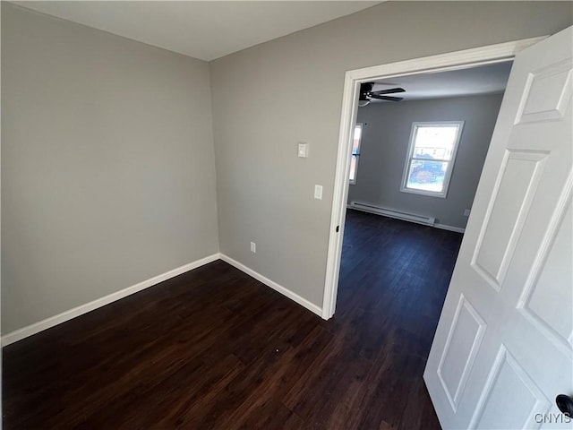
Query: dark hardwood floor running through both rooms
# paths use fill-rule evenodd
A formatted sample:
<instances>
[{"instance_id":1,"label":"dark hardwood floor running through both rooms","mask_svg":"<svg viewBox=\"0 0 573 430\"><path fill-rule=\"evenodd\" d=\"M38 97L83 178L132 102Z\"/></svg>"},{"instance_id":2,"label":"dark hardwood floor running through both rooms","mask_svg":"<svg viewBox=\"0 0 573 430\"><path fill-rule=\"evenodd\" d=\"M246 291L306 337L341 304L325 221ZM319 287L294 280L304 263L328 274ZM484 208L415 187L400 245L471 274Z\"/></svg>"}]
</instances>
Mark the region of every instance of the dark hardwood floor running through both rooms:
<instances>
[{"instance_id":1,"label":"dark hardwood floor running through both rooms","mask_svg":"<svg viewBox=\"0 0 573 430\"><path fill-rule=\"evenodd\" d=\"M4 348L4 429L440 428L422 374L461 235L348 211L328 322L212 262Z\"/></svg>"}]
</instances>

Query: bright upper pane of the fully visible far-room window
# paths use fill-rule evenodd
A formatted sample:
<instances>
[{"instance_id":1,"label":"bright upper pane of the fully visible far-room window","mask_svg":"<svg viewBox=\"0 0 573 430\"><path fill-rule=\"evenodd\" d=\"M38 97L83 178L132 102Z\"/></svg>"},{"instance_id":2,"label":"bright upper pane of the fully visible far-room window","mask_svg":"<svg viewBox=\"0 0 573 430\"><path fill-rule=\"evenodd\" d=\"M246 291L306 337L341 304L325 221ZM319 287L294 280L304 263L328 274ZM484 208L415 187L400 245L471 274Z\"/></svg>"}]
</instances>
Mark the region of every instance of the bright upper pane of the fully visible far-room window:
<instances>
[{"instance_id":1,"label":"bright upper pane of the fully visible far-room window","mask_svg":"<svg viewBox=\"0 0 573 430\"><path fill-rule=\"evenodd\" d=\"M415 133L414 158L451 159L458 125L419 125Z\"/></svg>"}]
</instances>

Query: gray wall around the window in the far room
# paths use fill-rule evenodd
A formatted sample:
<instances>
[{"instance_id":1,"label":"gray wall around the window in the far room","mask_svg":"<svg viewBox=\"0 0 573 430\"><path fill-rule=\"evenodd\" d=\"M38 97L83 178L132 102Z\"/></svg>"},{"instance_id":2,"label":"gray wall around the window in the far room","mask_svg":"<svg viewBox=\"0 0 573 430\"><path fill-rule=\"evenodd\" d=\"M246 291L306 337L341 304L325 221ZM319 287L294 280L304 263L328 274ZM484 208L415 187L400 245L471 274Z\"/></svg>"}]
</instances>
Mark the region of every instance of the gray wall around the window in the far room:
<instances>
[{"instance_id":1,"label":"gray wall around the window in the far room","mask_svg":"<svg viewBox=\"0 0 573 430\"><path fill-rule=\"evenodd\" d=\"M501 99L495 94L360 107L357 122L366 125L356 185L350 185L348 202L374 203L466 228L464 210L474 202ZM412 123L417 121L465 121L446 198L400 192Z\"/></svg>"}]
</instances>

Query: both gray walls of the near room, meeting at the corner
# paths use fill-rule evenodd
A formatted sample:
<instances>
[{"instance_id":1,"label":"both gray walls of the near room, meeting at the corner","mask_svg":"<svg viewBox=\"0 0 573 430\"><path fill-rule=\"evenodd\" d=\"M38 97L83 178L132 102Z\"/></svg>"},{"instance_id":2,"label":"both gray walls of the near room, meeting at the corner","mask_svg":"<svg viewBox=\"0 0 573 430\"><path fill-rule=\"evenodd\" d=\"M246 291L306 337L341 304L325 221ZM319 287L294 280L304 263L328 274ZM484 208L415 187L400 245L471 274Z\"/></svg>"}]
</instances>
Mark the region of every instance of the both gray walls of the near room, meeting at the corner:
<instances>
[{"instance_id":1,"label":"both gray walls of the near room, meeting at the corner","mask_svg":"<svg viewBox=\"0 0 573 430\"><path fill-rule=\"evenodd\" d=\"M206 64L3 3L2 331L218 242L321 305L346 70L551 34L571 15L389 2Z\"/></svg>"}]
</instances>

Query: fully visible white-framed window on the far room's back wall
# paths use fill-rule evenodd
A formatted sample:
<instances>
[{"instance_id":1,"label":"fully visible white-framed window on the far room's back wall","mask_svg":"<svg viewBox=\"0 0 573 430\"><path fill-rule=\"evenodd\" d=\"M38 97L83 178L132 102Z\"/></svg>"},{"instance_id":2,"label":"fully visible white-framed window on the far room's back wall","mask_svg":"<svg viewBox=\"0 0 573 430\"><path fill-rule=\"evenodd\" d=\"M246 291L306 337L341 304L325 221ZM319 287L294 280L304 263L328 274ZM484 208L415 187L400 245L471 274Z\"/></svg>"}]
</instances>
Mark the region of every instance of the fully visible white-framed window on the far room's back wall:
<instances>
[{"instance_id":1,"label":"fully visible white-framed window on the far room's back wall","mask_svg":"<svg viewBox=\"0 0 573 430\"><path fill-rule=\"evenodd\" d=\"M400 191L446 197L463 121L414 123Z\"/></svg>"}]
</instances>

